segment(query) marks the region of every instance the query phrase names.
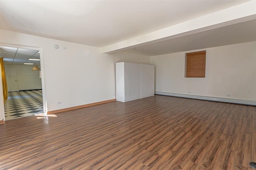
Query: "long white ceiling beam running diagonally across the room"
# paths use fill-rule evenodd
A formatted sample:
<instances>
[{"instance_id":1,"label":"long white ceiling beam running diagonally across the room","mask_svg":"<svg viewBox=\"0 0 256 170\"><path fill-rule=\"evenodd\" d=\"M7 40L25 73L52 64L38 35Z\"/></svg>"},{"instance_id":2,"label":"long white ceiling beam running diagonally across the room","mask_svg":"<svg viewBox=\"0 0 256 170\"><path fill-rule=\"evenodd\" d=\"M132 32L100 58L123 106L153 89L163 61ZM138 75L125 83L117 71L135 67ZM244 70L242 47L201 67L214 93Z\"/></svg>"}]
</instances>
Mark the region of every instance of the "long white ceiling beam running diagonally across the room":
<instances>
[{"instance_id":1,"label":"long white ceiling beam running diagonally across the room","mask_svg":"<svg viewBox=\"0 0 256 170\"><path fill-rule=\"evenodd\" d=\"M142 45L171 40L199 32L256 19L256 0L195 18L155 32L102 47L102 53L114 53Z\"/></svg>"}]
</instances>

